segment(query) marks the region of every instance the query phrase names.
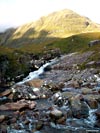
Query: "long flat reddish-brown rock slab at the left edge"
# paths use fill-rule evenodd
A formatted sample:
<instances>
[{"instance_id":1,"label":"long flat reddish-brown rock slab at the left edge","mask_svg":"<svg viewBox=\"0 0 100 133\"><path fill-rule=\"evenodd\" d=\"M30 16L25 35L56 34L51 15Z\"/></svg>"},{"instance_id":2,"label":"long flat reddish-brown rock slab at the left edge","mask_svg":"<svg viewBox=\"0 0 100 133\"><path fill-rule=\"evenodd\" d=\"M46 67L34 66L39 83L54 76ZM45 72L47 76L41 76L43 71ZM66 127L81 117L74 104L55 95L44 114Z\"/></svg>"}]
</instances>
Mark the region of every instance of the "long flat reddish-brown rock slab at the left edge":
<instances>
[{"instance_id":1,"label":"long flat reddish-brown rock slab at the left edge","mask_svg":"<svg viewBox=\"0 0 100 133\"><path fill-rule=\"evenodd\" d=\"M34 101L20 100L17 102L6 103L0 106L0 110L20 110L23 108L33 109L36 105Z\"/></svg>"}]
</instances>

